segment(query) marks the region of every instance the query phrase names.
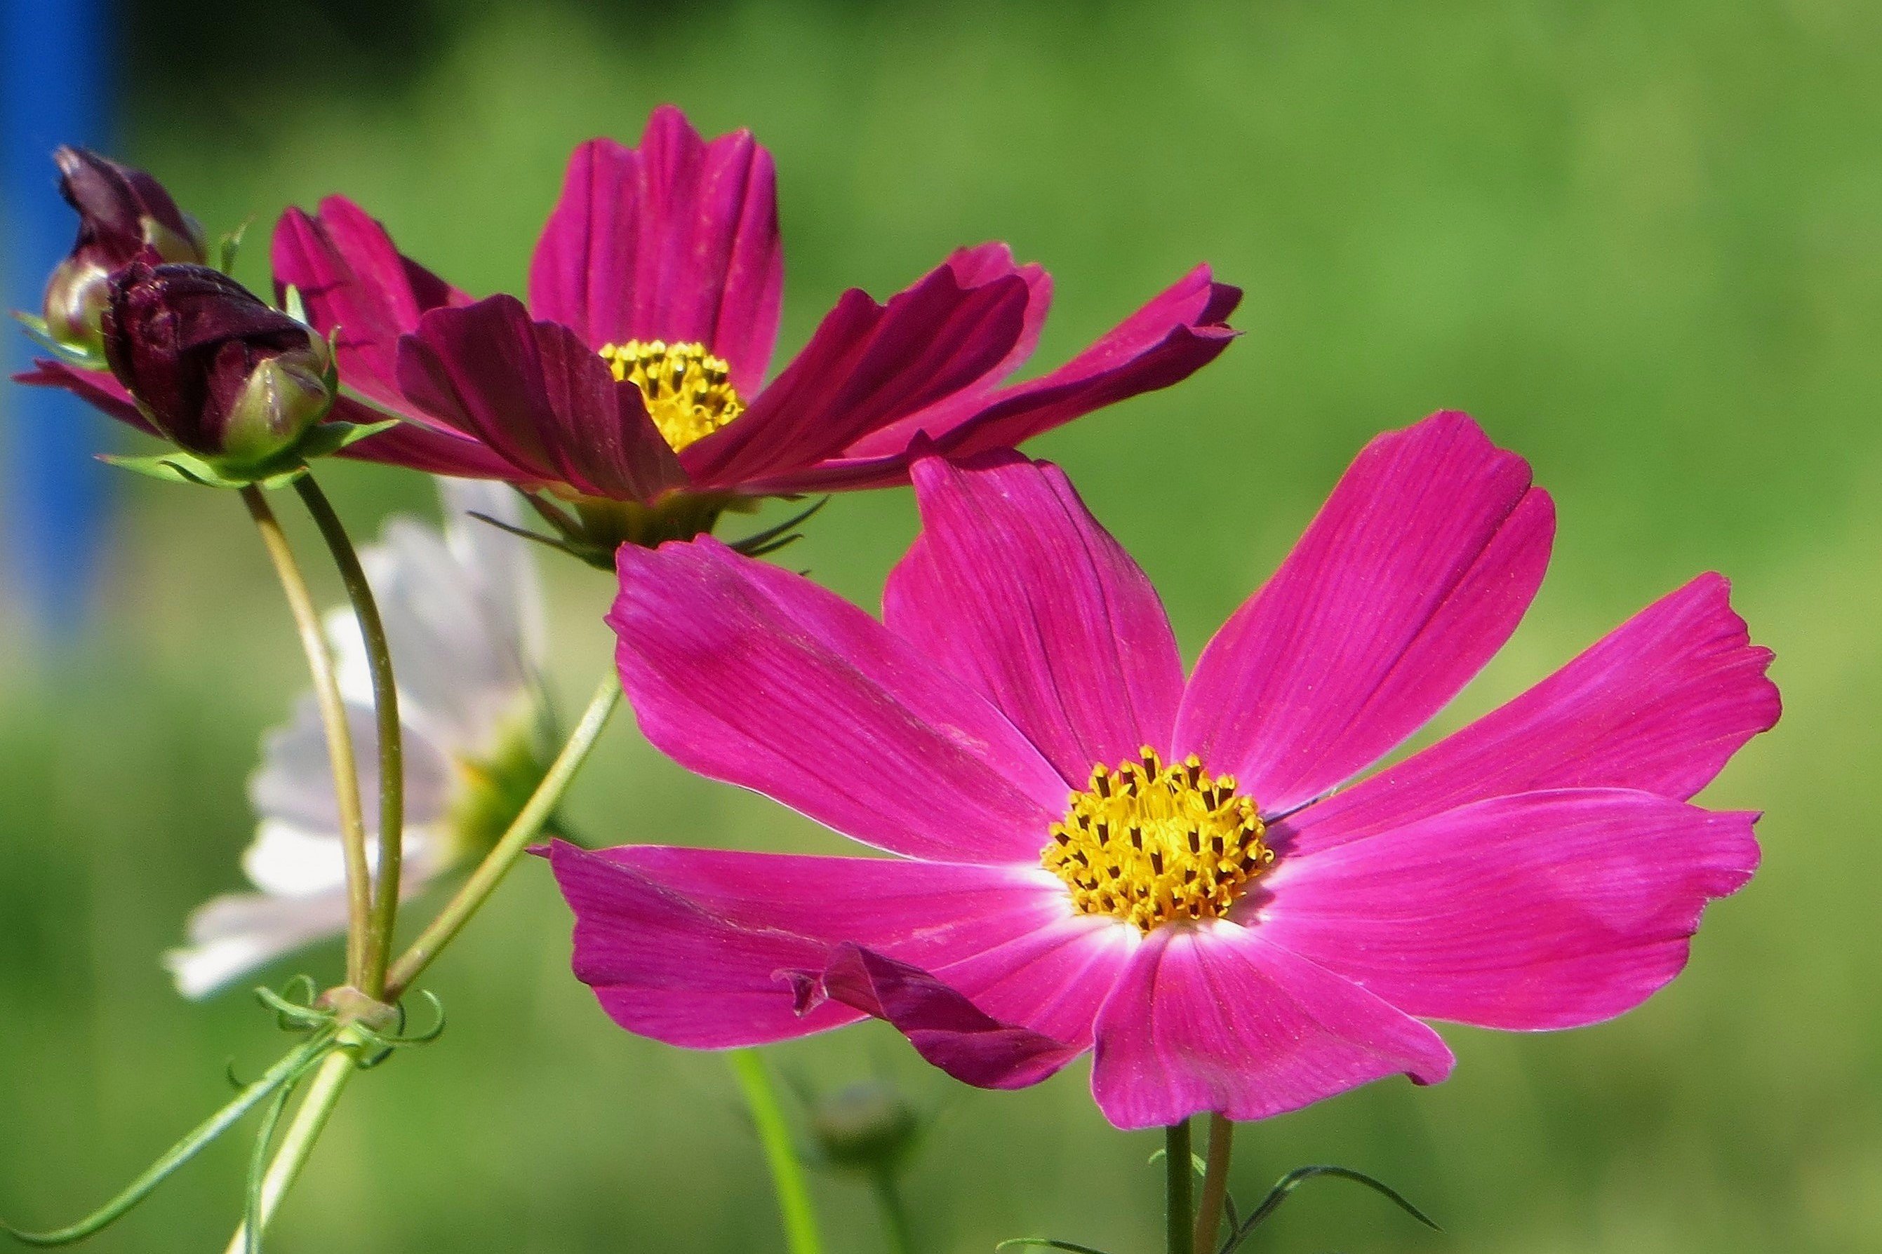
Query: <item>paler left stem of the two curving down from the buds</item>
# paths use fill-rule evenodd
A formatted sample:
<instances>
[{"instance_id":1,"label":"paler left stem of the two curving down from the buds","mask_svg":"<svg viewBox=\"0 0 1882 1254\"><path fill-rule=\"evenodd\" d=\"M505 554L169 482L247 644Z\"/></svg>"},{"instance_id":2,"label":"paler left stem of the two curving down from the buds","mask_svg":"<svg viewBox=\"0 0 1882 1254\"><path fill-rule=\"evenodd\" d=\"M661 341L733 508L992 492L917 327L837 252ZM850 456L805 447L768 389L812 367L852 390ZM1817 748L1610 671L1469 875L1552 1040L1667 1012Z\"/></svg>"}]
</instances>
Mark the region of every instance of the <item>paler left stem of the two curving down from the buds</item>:
<instances>
[{"instance_id":1,"label":"paler left stem of the two curving down from the buds","mask_svg":"<svg viewBox=\"0 0 1882 1254\"><path fill-rule=\"evenodd\" d=\"M327 733L327 763L333 769L333 799L341 818L341 850L346 861L346 983L358 985L365 970L367 934L373 927L373 872L365 857L365 814L359 808L359 769L354 760L352 729L346 722L346 701L341 698L339 679L333 675L333 654L327 652L327 639L320 630L320 611L307 590L307 577L301 575L288 536L280 530L280 521L269 508L262 489L248 485L241 489L241 500L248 506L262 534L262 547L267 549L275 573L280 577L280 590L288 596L288 609L294 613L294 626L301 635L301 652L307 654L307 673L314 682L314 705L320 709L320 726Z\"/></svg>"}]
</instances>

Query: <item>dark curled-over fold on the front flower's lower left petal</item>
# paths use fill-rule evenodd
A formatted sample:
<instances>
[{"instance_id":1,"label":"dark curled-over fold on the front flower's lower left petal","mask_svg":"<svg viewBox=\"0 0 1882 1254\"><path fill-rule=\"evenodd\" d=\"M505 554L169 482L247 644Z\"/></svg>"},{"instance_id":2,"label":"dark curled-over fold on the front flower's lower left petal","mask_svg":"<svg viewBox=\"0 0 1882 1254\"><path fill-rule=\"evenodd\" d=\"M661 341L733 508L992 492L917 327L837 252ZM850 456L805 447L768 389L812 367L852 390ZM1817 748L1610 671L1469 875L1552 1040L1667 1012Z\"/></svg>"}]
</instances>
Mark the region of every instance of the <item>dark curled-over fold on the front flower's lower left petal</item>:
<instances>
[{"instance_id":1,"label":"dark curled-over fold on the front flower's lower left petal","mask_svg":"<svg viewBox=\"0 0 1882 1254\"><path fill-rule=\"evenodd\" d=\"M918 966L854 944L837 946L822 970L790 972L798 1004L837 1002L885 1019L915 1051L964 1085L1026 1089L1086 1051L1031 1028L1001 1023Z\"/></svg>"}]
</instances>

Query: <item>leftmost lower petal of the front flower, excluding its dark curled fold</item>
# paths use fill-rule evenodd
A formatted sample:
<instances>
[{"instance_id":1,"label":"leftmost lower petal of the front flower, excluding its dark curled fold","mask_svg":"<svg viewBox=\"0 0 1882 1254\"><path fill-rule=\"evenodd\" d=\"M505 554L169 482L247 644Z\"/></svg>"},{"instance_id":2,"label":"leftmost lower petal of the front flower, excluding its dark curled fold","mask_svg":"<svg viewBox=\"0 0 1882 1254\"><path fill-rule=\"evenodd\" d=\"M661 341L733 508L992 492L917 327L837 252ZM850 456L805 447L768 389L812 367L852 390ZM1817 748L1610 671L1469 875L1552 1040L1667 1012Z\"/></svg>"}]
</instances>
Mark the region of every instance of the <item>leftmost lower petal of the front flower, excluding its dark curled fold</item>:
<instances>
[{"instance_id":1,"label":"leftmost lower petal of the front flower, excluding its dark curled fold","mask_svg":"<svg viewBox=\"0 0 1882 1254\"><path fill-rule=\"evenodd\" d=\"M847 940L939 970L971 968L967 987L1028 983L1033 1004L1009 993L1005 1006L1054 1023L1060 955L1082 953L1090 966L1099 944L1039 870L566 844L550 859L576 914L576 976L615 1023L676 1045L749 1045L853 1021L839 1008L800 1006L802 980L789 978L822 972ZM1086 1042L1101 996L1075 1025Z\"/></svg>"}]
</instances>

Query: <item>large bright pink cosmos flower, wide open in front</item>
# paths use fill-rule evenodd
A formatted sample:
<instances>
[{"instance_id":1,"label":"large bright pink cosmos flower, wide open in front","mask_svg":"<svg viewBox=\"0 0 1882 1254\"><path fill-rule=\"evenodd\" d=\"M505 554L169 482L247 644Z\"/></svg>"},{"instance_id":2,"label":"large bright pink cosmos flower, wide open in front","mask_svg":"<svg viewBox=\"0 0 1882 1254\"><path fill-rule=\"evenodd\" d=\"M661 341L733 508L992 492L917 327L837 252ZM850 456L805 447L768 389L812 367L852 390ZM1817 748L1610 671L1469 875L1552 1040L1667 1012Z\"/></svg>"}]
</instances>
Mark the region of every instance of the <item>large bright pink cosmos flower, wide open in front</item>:
<instances>
[{"instance_id":1,"label":"large bright pink cosmos flower, wide open in front","mask_svg":"<svg viewBox=\"0 0 1882 1254\"><path fill-rule=\"evenodd\" d=\"M775 1042L879 1015L969 1083L1095 1045L1118 1126L1261 1119L1453 1064L1421 1019L1568 1028L1686 963L1758 865L1688 805L1778 716L1701 575L1551 679L1342 788L1523 617L1555 515L1468 417L1374 440L1184 679L1156 592L1065 476L915 466L883 620L708 540L623 549L647 737L894 857L551 861L623 1027Z\"/></svg>"}]
</instances>

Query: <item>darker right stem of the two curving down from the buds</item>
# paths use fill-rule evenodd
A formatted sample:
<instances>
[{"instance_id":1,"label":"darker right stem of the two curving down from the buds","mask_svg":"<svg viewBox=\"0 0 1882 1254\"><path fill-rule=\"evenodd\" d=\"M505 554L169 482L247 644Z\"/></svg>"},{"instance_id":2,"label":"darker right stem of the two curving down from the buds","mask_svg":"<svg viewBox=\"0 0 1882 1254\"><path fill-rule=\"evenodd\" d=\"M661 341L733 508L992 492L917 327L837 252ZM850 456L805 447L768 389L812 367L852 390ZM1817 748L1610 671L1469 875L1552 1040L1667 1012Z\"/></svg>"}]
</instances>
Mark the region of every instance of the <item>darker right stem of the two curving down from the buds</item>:
<instances>
[{"instance_id":1,"label":"darker right stem of the two curving down from the buds","mask_svg":"<svg viewBox=\"0 0 1882 1254\"><path fill-rule=\"evenodd\" d=\"M399 921L399 859L405 850L405 735L399 724L399 688L391 677L391 647L386 643L386 624L378 617L378 602L365 568L354 551L346 525L333 511L327 494L320 491L312 472L294 481L294 491L314 517L322 540L333 553L333 564L346 585L359 637L365 641L367 669L373 673L373 716L378 729L378 891L367 921L365 957L356 985L367 996L384 996L386 963L391 959L391 931Z\"/></svg>"}]
</instances>

